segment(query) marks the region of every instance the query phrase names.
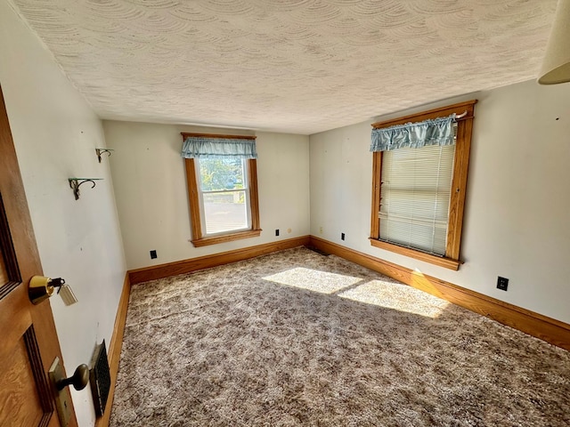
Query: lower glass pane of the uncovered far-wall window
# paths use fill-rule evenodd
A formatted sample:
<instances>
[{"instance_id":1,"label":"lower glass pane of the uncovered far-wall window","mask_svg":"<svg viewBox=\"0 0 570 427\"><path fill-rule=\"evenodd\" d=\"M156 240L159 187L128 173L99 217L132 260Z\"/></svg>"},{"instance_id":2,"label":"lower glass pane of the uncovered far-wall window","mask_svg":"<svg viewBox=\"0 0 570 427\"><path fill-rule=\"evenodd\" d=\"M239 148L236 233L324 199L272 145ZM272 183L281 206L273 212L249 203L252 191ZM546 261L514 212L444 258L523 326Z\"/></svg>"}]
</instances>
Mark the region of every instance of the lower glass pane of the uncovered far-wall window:
<instances>
[{"instance_id":1,"label":"lower glass pane of the uncovered far-wall window","mask_svg":"<svg viewBox=\"0 0 570 427\"><path fill-rule=\"evenodd\" d=\"M247 229L248 205L246 191L226 191L202 195L206 234Z\"/></svg>"}]
</instances>

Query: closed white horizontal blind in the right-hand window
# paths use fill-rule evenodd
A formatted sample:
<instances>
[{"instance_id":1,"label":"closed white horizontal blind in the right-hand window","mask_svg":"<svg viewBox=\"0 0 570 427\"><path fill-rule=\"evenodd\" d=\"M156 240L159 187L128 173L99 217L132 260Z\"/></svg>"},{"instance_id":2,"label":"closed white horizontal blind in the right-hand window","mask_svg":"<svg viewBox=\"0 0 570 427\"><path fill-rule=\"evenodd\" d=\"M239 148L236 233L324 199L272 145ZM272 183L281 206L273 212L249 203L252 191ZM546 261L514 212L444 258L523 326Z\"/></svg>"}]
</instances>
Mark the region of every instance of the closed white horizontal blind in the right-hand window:
<instances>
[{"instance_id":1,"label":"closed white horizontal blind in the right-hand window","mask_svg":"<svg viewBox=\"0 0 570 427\"><path fill-rule=\"evenodd\" d=\"M379 239L445 254L455 145L382 153Z\"/></svg>"}]
</instances>

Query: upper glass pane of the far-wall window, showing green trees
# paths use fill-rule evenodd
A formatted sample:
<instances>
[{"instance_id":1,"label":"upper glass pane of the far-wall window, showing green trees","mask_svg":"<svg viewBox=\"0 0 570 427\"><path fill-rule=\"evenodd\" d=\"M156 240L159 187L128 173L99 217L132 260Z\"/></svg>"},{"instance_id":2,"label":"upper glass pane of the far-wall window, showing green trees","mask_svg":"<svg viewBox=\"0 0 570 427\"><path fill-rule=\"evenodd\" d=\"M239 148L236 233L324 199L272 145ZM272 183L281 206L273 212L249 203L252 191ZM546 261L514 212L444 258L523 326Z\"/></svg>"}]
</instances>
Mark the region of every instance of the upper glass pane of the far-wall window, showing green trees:
<instances>
[{"instance_id":1,"label":"upper glass pane of the far-wall window, showing green trees","mask_svg":"<svg viewBox=\"0 0 570 427\"><path fill-rule=\"evenodd\" d=\"M200 158L200 189L219 191L245 188L243 163L239 157Z\"/></svg>"}]
</instances>

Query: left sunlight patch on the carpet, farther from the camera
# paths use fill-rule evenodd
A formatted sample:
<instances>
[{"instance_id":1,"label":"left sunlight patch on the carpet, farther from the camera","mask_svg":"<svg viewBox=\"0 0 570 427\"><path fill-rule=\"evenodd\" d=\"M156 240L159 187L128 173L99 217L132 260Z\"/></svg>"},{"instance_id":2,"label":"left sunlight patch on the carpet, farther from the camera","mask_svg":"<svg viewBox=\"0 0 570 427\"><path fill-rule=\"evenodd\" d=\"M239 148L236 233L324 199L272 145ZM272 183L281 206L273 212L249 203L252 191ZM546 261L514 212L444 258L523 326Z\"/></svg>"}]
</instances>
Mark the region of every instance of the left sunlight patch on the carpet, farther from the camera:
<instances>
[{"instance_id":1,"label":"left sunlight patch on the carpet, farther from the camera","mask_svg":"<svg viewBox=\"0 0 570 427\"><path fill-rule=\"evenodd\" d=\"M307 289L319 294L334 294L346 287L356 285L362 281L362 278L297 267L296 269L282 271L272 276L266 276L264 280L279 285Z\"/></svg>"}]
</instances>

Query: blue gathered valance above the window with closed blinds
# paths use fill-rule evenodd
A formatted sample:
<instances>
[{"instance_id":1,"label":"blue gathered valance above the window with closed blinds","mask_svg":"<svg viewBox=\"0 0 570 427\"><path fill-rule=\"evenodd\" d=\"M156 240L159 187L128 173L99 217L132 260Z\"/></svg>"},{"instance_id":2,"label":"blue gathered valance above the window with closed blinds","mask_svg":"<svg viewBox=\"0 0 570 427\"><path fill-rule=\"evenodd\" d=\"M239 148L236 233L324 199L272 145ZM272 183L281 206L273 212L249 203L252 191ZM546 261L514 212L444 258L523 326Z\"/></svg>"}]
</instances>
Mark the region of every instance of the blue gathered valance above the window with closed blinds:
<instances>
[{"instance_id":1,"label":"blue gathered valance above the window with closed blinds","mask_svg":"<svg viewBox=\"0 0 570 427\"><path fill-rule=\"evenodd\" d=\"M371 151L452 145L455 143L453 123L455 114L418 123L372 129Z\"/></svg>"}]
</instances>

